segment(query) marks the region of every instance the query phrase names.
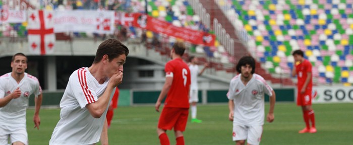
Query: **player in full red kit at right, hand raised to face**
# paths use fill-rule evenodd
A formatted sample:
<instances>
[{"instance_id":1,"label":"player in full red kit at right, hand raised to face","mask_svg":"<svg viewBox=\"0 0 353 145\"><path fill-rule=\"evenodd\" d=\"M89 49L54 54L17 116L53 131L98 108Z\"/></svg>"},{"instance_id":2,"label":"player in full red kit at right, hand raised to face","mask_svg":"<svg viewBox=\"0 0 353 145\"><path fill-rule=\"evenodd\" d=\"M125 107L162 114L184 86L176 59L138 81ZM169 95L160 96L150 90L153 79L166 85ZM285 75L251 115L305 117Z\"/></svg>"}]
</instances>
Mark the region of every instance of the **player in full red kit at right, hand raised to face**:
<instances>
[{"instance_id":1,"label":"player in full red kit at right, hand raised to face","mask_svg":"<svg viewBox=\"0 0 353 145\"><path fill-rule=\"evenodd\" d=\"M302 106L303 117L306 124L306 128L300 130L299 133L315 133L315 116L314 110L311 107L312 100L312 65L309 60L304 58L304 52L302 50L296 50L292 53L296 60L295 67L292 70L292 76L297 75L298 78L298 97L297 105ZM297 64L299 63L299 64ZM311 127L310 127L311 122Z\"/></svg>"}]
</instances>

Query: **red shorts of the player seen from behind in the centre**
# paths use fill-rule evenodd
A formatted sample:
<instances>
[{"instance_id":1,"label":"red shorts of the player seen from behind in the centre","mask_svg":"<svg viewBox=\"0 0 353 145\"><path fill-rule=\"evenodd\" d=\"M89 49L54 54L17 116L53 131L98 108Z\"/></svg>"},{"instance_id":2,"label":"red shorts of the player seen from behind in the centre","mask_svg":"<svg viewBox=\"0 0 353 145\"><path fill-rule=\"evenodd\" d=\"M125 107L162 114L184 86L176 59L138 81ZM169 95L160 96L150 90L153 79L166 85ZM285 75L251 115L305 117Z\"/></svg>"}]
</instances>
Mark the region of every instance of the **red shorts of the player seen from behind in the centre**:
<instances>
[{"instance_id":1,"label":"red shorts of the player seen from behind in the centre","mask_svg":"<svg viewBox=\"0 0 353 145\"><path fill-rule=\"evenodd\" d=\"M184 131L188 122L189 108L164 107L158 121L158 128Z\"/></svg>"}]
</instances>

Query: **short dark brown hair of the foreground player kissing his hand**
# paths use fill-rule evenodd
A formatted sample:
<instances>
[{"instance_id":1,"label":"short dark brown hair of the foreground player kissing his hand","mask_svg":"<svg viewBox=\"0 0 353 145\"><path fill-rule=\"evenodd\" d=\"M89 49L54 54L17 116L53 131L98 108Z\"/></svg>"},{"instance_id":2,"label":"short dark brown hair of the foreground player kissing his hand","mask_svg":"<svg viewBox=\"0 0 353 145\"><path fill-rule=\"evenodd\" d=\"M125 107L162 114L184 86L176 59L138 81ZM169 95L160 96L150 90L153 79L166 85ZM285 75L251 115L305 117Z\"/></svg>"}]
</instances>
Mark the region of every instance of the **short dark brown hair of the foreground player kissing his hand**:
<instances>
[{"instance_id":1,"label":"short dark brown hair of the foreground player kissing his hand","mask_svg":"<svg viewBox=\"0 0 353 145\"><path fill-rule=\"evenodd\" d=\"M93 63L98 63L104 55L108 55L109 62L120 55L128 56L129 49L122 42L116 39L107 39L103 41L97 49Z\"/></svg>"}]
</instances>

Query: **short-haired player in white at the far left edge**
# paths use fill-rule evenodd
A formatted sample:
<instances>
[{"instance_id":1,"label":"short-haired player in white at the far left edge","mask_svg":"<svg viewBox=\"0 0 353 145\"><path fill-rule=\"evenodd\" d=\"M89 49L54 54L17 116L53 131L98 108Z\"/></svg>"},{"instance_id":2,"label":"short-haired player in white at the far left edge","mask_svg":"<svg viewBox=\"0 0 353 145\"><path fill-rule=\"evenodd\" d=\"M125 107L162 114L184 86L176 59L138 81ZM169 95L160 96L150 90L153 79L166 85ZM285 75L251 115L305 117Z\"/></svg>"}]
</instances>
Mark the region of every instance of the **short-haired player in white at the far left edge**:
<instances>
[{"instance_id":1,"label":"short-haired player in white at the far left edge","mask_svg":"<svg viewBox=\"0 0 353 145\"><path fill-rule=\"evenodd\" d=\"M42 90L38 79L27 73L27 57L16 53L12 57L12 72L0 77L0 144L28 144L26 130L26 108L28 98L34 94L34 127L39 129L39 109Z\"/></svg>"}]
</instances>

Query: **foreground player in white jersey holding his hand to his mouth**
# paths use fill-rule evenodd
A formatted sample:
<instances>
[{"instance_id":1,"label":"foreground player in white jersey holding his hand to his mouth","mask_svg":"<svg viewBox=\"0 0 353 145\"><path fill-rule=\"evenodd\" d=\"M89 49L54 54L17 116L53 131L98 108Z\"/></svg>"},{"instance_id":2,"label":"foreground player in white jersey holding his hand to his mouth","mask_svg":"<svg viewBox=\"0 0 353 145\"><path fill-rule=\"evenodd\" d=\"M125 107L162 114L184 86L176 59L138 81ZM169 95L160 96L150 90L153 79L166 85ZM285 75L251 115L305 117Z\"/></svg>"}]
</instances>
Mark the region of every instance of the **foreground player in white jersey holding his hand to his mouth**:
<instances>
[{"instance_id":1,"label":"foreground player in white jersey holding his hand to his mouth","mask_svg":"<svg viewBox=\"0 0 353 145\"><path fill-rule=\"evenodd\" d=\"M75 70L60 102L60 120L49 144L108 144L106 112L113 89L123 81L129 49L119 40L99 46L90 67Z\"/></svg>"}]
</instances>

